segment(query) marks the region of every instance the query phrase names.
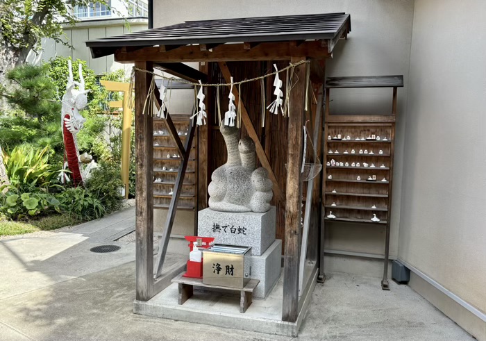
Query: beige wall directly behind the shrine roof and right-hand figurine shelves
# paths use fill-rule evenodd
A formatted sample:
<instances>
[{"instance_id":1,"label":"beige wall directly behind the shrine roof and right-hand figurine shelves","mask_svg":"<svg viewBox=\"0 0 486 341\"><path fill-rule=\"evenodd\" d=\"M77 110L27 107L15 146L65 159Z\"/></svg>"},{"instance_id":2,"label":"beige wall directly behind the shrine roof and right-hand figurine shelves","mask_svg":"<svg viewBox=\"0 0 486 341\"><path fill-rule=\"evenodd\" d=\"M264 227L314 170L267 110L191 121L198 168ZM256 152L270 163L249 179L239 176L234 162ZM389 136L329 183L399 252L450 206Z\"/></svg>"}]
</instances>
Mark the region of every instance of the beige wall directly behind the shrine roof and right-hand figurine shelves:
<instances>
[{"instance_id":1,"label":"beige wall directly behind the shrine roof and right-hand figurine shelves","mask_svg":"<svg viewBox=\"0 0 486 341\"><path fill-rule=\"evenodd\" d=\"M229 10L231 9L231 10ZM376 0L309 0L309 1L222 1L156 0L154 27L178 24L187 20L222 19L228 17L259 17L266 15L299 15L309 13L345 12L351 14L352 31L347 41L340 42L332 60L328 60L328 76L361 76L403 74L405 88L399 90L399 122L397 123L396 167L391 253L398 249L401 165L405 104L408 92L408 68L413 19L413 1ZM389 113L392 90L333 92L331 110L335 113ZM192 101L192 99L191 99ZM345 104L344 104L345 103ZM271 158L271 155L269 156ZM347 251L384 252L385 229L376 226L346 226L336 224L326 229L326 247ZM376 262L376 267L383 267ZM378 270L379 272L379 270ZM376 273L376 272L375 272Z\"/></svg>"}]
</instances>

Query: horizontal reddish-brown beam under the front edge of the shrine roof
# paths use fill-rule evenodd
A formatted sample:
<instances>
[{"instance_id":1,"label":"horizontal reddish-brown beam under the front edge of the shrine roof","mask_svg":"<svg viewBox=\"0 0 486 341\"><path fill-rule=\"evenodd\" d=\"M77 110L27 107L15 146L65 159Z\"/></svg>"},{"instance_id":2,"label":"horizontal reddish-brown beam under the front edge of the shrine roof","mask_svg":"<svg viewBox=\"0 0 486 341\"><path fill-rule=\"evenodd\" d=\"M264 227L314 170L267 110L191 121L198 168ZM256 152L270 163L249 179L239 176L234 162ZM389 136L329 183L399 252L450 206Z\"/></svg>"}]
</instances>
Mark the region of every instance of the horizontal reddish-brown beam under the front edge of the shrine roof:
<instances>
[{"instance_id":1,"label":"horizontal reddish-brown beam under the front edge of the shrine roof","mask_svg":"<svg viewBox=\"0 0 486 341\"><path fill-rule=\"evenodd\" d=\"M145 47L133 52L119 49L115 52L118 63L153 61L165 63L177 62L231 62L244 60L290 60L294 56L308 58L328 58L327 47L319 41L304 42L299 47L290 47L288 42L264 42L253 49L245 50L244 44L222 44L213 51L201 51L198 45L187 45L173 51L162 52L158 47Z\"/></svg>"}]
</instances>

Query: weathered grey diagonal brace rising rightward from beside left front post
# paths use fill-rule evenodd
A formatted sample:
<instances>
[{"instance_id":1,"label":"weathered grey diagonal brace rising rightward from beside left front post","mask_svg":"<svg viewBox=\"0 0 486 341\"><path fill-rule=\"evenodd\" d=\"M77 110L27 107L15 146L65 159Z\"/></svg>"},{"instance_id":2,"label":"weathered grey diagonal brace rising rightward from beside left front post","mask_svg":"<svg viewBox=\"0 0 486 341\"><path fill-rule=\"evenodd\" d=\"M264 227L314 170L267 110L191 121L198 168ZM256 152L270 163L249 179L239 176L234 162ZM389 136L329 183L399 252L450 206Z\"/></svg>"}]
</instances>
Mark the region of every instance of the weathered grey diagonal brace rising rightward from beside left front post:
<instances>
[{"instance_id":1,"label":"weathered grey diagonal brace rising rightward from beside left front post","mask_svg":"<svg viewBox=\"0 0 486 341\"><path fill-rule=\"evenodd\" d=\"M162 237L158 239L159 243L157 253L157 265L155 268L155 278L162 274L162 267L164 266L165 254L167 253L167 246L169 245L172 225L174 224L174 220L176 219L177 204L183 188L185 170L187 169L187 164L189 163L191 144L194 138L195 130L196 128L194 127L194 124L192 124L192 121L190 121L189 131L187 132L187 138L185 139L185 154L183 155L183 162L179 166L177 172L176 184L174 185L174 194L172 194L172 198L169 203L169 210L167 210L167 219L165 221L164 231L162 232Z\"/></svg>"}]
</instances>

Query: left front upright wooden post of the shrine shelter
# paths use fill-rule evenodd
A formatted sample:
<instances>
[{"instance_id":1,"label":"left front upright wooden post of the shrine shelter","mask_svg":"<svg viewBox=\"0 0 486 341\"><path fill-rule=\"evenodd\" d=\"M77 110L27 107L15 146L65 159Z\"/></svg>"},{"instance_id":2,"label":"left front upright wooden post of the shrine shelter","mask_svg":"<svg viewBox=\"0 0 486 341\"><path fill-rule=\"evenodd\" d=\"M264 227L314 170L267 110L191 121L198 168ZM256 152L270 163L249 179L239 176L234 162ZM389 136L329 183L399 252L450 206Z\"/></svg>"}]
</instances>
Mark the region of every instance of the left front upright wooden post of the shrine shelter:
<instances>
[{"instance_id":1,"label":"left front upright wooden post of the shrine shelter","mask_svg":"<svg viewBox=\"0 0 486 341\"><path fill-rule=\"evenodd\" d=\"M135 67L151 71L151 63ZM135 72L135 154L137 164L135 199L136 299L148 301L153 293L153 122L144 114L151 74Z\"/></svg>"}]
</instances>

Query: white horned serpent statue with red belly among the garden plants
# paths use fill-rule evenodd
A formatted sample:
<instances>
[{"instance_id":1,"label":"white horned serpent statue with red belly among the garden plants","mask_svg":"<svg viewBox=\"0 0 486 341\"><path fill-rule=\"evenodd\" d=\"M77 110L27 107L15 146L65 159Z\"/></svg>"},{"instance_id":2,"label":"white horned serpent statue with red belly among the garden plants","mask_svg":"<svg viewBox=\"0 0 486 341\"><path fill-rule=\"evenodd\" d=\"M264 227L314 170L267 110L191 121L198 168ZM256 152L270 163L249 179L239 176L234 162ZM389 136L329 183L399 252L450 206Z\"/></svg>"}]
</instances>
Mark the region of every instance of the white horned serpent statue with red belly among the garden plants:
<instances>
[{"instance_id":1,"label":"white horned serpent statue with red belly among the garden plants","mask_svg":"<svg viewBox=\"0 0 486 341\"><path fill-rule=\"evenodd\" d=\"M80 82L78 83L73 80L71 60L67 62L69 65L69 78L67 79L66 93L62 96L62 139L65 145L67 167L69 167L69 171L71 172L69 178L74 186L77 187L83 184L87 174L89 174L91 169L97 167L97 165L92 161L86 168L83 168L79 157L78 142L76 140L76 134L83 128L83 124L86 122L86 119L81 116L79 110L83 110L87 106L86 94L91 90L85 90L81 63L79 64ZM76 85L78 85L78 89L76 89ZM69 179L66 176L62 176L61 181L65 183Z\"/></svg>"}]
</instances>

